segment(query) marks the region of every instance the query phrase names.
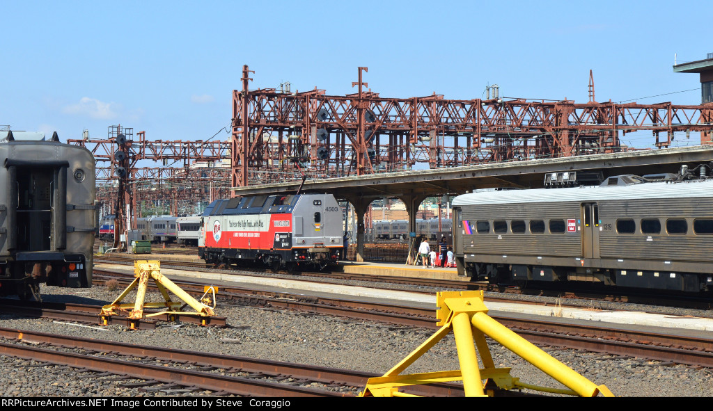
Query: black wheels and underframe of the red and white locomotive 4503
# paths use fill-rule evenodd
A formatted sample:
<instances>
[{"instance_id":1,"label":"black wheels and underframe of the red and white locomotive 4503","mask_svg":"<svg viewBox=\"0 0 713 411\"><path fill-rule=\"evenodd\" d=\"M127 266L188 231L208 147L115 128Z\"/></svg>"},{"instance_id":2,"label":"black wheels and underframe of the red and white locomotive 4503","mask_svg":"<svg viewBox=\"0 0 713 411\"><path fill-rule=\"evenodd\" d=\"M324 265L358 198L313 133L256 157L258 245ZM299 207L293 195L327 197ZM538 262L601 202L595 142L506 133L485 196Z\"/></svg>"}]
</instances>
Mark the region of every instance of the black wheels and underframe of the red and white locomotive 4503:
<instances>
[{"instance_id":1,"label":"black wheels and underframe of the red and white locomotive 4503","mask_svg":"<svg viewBox=\"0 0 713 411\"><path fill-rule=\"evenodd\" d=\"M257 263L278 271L297 271L305 268L322 270L336 265L341 249L311 247L292 250L250 250L250 249L210 249L199 248L198 256L207 264L225 266Z\"/></svg>"}]
</instances>

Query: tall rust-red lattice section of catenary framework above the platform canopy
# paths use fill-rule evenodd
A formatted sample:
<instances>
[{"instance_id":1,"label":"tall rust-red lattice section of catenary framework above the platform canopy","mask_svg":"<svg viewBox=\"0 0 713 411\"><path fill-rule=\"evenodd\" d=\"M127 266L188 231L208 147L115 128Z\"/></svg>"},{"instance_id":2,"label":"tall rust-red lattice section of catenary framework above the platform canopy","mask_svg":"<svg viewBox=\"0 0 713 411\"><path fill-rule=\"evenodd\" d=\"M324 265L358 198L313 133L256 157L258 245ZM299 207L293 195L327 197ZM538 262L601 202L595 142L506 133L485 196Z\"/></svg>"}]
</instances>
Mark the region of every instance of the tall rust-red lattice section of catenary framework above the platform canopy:
<instances>
[{"instance_id":1,"label":"tall rust-red lattice section of catenary framework above the platform canopy","mask_svg":"<svg viewBox=\"0 0 713 411\"><path fill-rule=\"evenodd\" d=\"M232 185L265 184L488 162L568 157L627 150L620 137L649 130L655 147L674 132L701 132L711 143L713 105L596 103L493 98L446 100L443 95L382 98L358 92L292 93L242 90L232 98ZM661 134L662 133L662 134Z\"/></svg>"}]
</instances>

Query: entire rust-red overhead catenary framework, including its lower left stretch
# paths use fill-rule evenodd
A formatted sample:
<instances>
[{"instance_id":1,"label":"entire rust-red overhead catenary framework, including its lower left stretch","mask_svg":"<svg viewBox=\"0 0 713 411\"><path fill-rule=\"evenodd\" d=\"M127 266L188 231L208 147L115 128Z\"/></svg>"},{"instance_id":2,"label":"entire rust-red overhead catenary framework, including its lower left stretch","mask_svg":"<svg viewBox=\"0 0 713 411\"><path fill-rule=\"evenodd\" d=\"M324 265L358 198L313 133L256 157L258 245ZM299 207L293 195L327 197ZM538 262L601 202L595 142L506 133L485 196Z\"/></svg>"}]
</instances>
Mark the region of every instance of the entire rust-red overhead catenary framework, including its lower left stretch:
<instances>
[{"instance_id":1,"label":"entire rust-red overhead catenary framework, including its lower left stretch","mask_svg":"<svg viewBox=\"0 0 713 411\"><path fill-rule=\"evenodd\" d=\"M232 195L240 195L245 194L240 188L302 179L395 172L418 176L422 170L627 152L631 147L620 139L642 130L651 132L651 145L660 148L670 147L677 132L700 132L703 145L712 143L713 104L597 103L592 73L590 101L578 104L496 93L485 100L446 100L436 93L383 98L364 82L367 71L358 68L352 83L356 93L334 96L317 88L250 90L253 72L243 66L242 90L232 93L230 141L148 141L145 132L138 132L137 140L127 138L129 163L122 190L140 199L171 202L175 214L179 198L198 202L227 197L228 187L233 187ZM120 197L114 191L118 161L113 134L123 130L112 126L106 140L69 140L86 146L105 165L97 167L98 183L108 183L98 189L100 199ZM192 168L193 162L209 165L227 159L230 179L220 167ZM163 161L164 167L138 167L140 160ZM183 167L166 167L168 162L183 162ZM415 193L405 201L410 210L431 195L459 194L447 185L409 180L411 188L405 192ZM340 198L352 202L358 214L366 212L370 199L349 194ZM383 192L383 197L393 196Z\"/></svg>"}]
</instances>

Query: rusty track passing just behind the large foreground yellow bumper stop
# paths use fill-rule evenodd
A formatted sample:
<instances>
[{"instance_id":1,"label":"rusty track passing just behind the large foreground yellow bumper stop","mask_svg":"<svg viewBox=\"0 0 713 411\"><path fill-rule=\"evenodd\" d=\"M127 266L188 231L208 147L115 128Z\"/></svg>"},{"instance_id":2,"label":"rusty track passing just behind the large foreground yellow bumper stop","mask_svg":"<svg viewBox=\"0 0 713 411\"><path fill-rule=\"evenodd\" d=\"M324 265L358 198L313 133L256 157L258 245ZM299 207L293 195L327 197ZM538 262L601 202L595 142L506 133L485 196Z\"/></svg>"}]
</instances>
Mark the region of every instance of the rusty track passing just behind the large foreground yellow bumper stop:
<instances>
[{"instance_id":1,"label":"rusty track passing just behind the large foreground yellow bumper stop","mask_svg":"<svg viewBox=\"0 0 713 411\"><path fill-rule=\"evenodd\" d=\"M189 292L202 292L201 284L193 281L177 282ZM241 304L267 306L280 311L309 311L364 321L394 323L401 326L432 330L438 328L433 308L304 296L232 286L221 286L217 297L227 298ZM486 305L488 301L491 299L486 298ZM655 333L625 328L616 329L608 325L602 327L596 324L568 323L556 318L520 318L519 316L500 314L491 315L491 317L534 344L713 368L713 338L694 338L672 334L670 331Z\"/></svg>"}]
</instances>

